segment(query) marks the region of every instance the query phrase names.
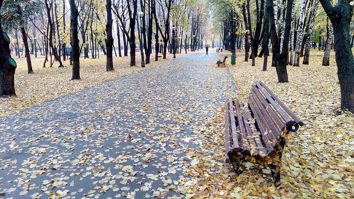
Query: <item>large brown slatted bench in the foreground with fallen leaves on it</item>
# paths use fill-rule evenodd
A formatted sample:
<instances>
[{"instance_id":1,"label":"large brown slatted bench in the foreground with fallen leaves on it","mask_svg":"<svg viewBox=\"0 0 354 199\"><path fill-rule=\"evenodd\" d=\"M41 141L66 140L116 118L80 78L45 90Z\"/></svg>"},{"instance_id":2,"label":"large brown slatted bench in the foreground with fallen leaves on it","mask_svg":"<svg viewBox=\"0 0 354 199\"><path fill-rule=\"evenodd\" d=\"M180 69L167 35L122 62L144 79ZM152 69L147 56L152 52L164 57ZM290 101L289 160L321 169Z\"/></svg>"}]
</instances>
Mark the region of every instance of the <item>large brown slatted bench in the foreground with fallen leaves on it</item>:
<instances>
[{"instance_id":1,"label":"large brown slatted bench in the foreground with fallen leaves on it","mask_svg":"<svg viewBox=\"0 0 354 199\"><path fill-rule=\"evenodd\" d=\"M235 98L226 99L226 163L231 162L237 174L253 166L268 166L270 172L259 172L270 173L275 186L279 186L286 135L304 123L261 81L252 85L247 101L245 105Z\"/></svg>"}]
</instances>

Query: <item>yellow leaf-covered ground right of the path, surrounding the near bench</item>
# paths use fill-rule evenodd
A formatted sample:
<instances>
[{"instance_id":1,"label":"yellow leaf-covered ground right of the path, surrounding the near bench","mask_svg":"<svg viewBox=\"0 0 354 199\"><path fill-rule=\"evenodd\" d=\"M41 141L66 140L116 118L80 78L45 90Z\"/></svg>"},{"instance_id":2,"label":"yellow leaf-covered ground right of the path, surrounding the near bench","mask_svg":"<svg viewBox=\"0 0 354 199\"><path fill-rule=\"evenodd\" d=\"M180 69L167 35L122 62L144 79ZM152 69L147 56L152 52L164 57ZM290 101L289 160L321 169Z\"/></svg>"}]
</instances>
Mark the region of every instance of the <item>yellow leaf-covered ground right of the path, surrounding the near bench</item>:
<instances>
[{"instance_id":1,"label":"yellow leaf-covered ground right of the path, surrounding the near bench","mask_svg":"<svg viewBox=\"0 0 354 199\"><path fill-rule=\"evenodd\" d=\"M219 174L199 180L199 187L206 186L199 189L200 198L203 195L210 198L354 198L353 114L339 111L340 91L334 56L331 56L331 66L323 67L323 52L315 50L311 53L314 56L310 57L310 65L288 66L290 82L282 84L277 83L271 62L267 71L261 71L263 58L256 58L254 67L251 60L244 62L244 51L237 53L235 65L229 64L230 58L227 59L227 69L240 91L235 97L246 101L250 86L261 80L306 125L296 133L290 132L287 137L280 188L267 183L269 178L258 172L246 171L236 177L231 166L225 166ZM229 52L221 52L224 54ZM207 129L215 137L223 136L213 130L222 123L223 113L220 111ZM219 153L202 150L201 159L223 160L223 141L213 141L208 146L219 148ZM204 161L190 173L198 175L199 171L212 170L213 166L212 162ZM232 180L228 176L233 176Z\"/></svg>"}]
</instances>

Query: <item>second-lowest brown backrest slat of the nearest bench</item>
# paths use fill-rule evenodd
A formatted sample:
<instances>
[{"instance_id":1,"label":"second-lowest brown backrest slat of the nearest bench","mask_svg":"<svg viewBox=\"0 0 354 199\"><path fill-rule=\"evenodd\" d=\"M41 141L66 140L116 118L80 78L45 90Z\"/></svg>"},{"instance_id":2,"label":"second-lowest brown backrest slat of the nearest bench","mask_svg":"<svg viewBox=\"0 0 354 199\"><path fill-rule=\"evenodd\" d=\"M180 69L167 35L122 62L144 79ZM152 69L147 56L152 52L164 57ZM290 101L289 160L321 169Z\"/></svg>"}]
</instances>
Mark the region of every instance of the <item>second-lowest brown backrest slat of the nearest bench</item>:
<instances>
[{"instance_id":1,"label":"second-lowest brown backrest slat of the nearest bench","mask_svg":"<svg viewBox=\"0 0 354 199\"><path fill-rule=\"evenodd\" d=\"M253 89L251 89L251 93L253 94L253 102L255 102L253 105L256 106L256 112L259 113L258 116L261 119L262 125L264 126L264 129L267 130L270 139L273 141L273 146L277 148L280 144L278 135L280 136L281 132L279 131L279 128L275 126L274 120L267 114Z\"/></svg>"}]
</instances>

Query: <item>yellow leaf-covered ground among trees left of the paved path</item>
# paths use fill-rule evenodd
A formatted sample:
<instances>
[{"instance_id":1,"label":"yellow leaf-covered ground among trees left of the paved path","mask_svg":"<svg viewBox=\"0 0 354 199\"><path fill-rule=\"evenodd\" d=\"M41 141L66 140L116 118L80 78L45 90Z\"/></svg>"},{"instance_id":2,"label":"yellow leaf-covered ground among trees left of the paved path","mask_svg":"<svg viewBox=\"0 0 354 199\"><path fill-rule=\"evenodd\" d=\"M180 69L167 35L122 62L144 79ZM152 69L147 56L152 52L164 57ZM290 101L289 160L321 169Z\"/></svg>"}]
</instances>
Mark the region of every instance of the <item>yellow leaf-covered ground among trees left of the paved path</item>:
<instances>
[{"instance_id":1,"label":"yellow leaf-covered ground among trees left of the paved path","mask_svg":"<svg viewBox=\"0 0 354 199\"><path fill-rule=\"evenodd\" d=\"M192 53L187 51L188 54ZM118 52L117 52L118 53ZM160 55L160 54L159 54ZM185 54L177 54L176 57ZM160 55L161 56L161 55ZM113 57L114 71L106 72L106 58L100 55L97 59L80 58L81 80L70 81L72 76L72 66L69 60L63 61L64 68L58 68L58 62L54 62L50 67L50 62L43 68L44 57L32 57L32 67L34 74L28 74L26 59L17 58L12 55L17 63L15 73L15 89L17 97L0 98L0 116L16 112L40 104L42 102L85 89L87 87L108 81L120 76L124 76L144 68L141 67L141 57L136 53L136 66L130 67L130 57ZM54 57L53 57L54 58ZM50 60L50 58L48 58ZM155 62L155 57L150 58L150 64L145 68L157 66L166 61L171 61L172 55L167 54L166 59L159 58Z\"/></svg>"}]
</instances>

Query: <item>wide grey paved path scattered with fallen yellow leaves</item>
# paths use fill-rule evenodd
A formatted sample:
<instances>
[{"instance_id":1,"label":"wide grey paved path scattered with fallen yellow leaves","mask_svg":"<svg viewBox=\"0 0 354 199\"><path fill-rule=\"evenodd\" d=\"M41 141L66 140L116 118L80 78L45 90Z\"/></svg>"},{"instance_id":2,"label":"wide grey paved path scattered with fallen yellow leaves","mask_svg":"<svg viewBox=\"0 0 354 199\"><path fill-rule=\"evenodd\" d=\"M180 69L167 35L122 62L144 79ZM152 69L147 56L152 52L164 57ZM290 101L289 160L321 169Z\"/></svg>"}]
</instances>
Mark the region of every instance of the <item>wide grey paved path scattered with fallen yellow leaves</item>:
<instances>
[{"instance_id":1,"label":"wide grey paved path scattered with fallen yellow leaves","mask_svg":"<svg viewBox=\"0 0 354 199\"><path fill-rule=\"evenodd\" d=\"M218 57L196 52L2 116L0 198L194 197L225 165L209 130L223 126L206 126L236 92Z\"/></svg>"}]
</instances>

